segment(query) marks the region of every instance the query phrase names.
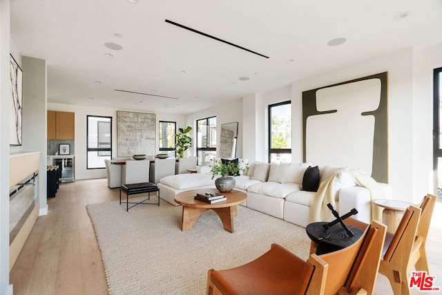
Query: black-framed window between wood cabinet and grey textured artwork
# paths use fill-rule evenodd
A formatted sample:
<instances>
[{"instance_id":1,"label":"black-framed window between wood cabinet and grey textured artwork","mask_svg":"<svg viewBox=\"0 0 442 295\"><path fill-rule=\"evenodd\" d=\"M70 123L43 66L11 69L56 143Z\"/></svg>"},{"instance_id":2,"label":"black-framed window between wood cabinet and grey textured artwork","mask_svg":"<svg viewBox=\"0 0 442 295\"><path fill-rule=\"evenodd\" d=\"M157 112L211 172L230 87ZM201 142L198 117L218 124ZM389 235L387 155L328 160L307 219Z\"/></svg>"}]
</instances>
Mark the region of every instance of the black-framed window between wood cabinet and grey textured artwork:
<instances>
[{"instance_id":1,"label":"black-framed window between wood cabinet and grey textured artwork","mask_svg":"<svg viewBox=\"0 0 442 295\"><path fill-rule=\"evenodd\" d=\"M87 116L87 169L102 169L112 155L112 117Z\"/></svg>"}]
</instances>

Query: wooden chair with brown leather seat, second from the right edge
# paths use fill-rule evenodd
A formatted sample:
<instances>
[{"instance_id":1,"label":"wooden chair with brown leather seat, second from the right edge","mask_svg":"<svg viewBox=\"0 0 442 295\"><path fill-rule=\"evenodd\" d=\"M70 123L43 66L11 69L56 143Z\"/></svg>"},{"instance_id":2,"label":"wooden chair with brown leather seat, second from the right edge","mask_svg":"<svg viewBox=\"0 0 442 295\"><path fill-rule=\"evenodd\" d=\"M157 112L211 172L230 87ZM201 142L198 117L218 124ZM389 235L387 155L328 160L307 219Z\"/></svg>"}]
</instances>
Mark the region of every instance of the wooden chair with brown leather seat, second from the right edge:
<instances>
[{"instance_id":1,"label":"wooden chair with brown leather seat, second from the right edge","mask_svg":"<svg viewBox=\"0 0 442 295\"><path fill-rule=\"evenodd\" d=\"M410 294L408 274L416 263L423 238L416 236L421 209L410 205L403 214L394 234L387 233L379 265L379 273L390 280L393 293Z\"/></svg>"}]
</instances>

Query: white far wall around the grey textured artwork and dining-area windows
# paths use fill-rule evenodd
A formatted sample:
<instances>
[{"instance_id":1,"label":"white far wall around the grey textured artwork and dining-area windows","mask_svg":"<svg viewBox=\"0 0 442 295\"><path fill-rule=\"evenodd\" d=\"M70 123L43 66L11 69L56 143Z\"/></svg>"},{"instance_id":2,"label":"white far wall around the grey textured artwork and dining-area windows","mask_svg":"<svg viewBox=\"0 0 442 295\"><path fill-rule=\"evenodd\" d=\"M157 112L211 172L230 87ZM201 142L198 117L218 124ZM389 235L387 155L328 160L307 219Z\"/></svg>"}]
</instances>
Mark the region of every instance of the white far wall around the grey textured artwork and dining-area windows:
<instances>
[{"instance_id":1,"label":"white far wall around the grey textured artwork and dining-area windows","mask_svg":"<svg viewBox=\"0 0 442 295\"><path fill-rule=\"evenodd\" d=\"M75 106L70 104L55 104L48 102L48 111L66 111L75 113L75 179L105 178L106 169L86 169L86 126L87 115L112 117L112 147L113 157L117 156L117 110L112 108L91 108L89 106ZM133 110L118 110L133 111ZM137 111L140 112L140 111ZM145 111L144 113L150 113ZM177 122L177 126L184 124L184 115L156 113L158 121ZM157 150L159 144L157 142Z\"/></svg>"}]
</instances>

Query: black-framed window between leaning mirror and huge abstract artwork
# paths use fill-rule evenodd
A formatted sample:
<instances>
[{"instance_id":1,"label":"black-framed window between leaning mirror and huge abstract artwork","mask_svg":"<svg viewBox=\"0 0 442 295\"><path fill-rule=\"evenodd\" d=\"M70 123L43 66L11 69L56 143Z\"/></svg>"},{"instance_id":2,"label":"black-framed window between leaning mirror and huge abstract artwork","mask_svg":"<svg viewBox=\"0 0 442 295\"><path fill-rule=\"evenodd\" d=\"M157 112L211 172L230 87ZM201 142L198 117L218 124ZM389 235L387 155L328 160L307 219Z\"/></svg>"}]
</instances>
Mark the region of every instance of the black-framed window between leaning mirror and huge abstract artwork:
<instances>
[{"instance_id":1,"label":"black-framed window between leaning mirror and huge abstract artwork","mask_svg":"<svg viewBox=\"0 0 442 295\"><path fill-rule=\"evenodd\" d=\"M269 162L291 162L291 102L269 105Z\"/></svg>"}]
</instances>

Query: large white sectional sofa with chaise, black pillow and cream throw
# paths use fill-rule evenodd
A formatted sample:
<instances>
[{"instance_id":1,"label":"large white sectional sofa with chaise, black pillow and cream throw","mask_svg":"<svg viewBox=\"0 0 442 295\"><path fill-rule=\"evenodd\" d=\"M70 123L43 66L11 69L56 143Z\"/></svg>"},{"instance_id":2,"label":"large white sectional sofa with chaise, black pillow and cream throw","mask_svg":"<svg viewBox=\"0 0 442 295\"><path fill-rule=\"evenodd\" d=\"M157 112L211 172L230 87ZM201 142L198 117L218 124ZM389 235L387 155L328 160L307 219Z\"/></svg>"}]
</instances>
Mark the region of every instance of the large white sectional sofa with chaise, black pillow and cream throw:
<instances>
[{"instance_id":1,"label":"large white sectional sofa with chaise, black pillow and cream throw","mask_svg":"<svg viewBox=\"0 0 442 295\"><path fill-rule=\"evenodd\" d=\"M302 186L310 187L308 175L305 173L311 163L281 163L268 164L254 162L245 175L236 176L236 189L247 193L244 206L269 214L276 218L305 227L310 223L310 204L317 196L316 191L306 191ZM177 205L173 199L177 193L189 189L215 187L211 179L209 167L199 167L199 173L171 175L162 178L160 196L162 199ZM347 169L323 166L319 171L319 183L334 178L333 196L335 209L341 215L353 208L358 210L356 219L371 222L371 196L369 189L359 187L347 173ZM389 184L379 184L382 187L383 198L392 198ZM311 188L310 188L311 190ZM329 220L334 219L332 213ZM323 220L323 221L329 221Z\"/></svg>"}]
</instances>

